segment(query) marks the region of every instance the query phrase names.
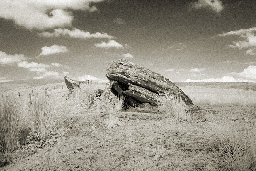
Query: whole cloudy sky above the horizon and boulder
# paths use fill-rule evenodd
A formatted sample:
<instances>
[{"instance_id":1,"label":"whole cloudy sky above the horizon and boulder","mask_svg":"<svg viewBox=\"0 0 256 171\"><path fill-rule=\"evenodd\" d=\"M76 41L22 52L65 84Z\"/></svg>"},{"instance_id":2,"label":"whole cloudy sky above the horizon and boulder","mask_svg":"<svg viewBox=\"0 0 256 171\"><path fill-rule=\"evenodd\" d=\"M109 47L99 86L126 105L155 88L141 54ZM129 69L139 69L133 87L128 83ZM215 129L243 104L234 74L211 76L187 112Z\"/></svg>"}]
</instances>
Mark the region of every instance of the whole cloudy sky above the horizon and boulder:
<instances>
[{"instance_id":1,"label":"whole cloudy sky above the horizon and boulder","mask_svg":"<svg viewBox=\"0 0 256 171\"><path fill-rule=\"evenodd\" d=\"M256 82L255 0L0 0L0 82L106 82L126 59L172 82Z\"/></svg>"}]
</instances>

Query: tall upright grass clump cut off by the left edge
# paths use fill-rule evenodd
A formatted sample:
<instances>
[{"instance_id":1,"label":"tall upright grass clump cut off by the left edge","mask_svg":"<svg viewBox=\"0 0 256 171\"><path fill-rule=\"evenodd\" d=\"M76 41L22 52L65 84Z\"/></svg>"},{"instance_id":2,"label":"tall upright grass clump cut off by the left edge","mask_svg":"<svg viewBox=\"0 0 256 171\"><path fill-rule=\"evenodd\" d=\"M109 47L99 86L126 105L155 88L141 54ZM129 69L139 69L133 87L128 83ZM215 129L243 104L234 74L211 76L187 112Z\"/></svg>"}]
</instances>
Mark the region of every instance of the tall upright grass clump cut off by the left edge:
<instances>
[{"instance_id":1,"label":"tall upright grass clump cut off by the left edge","mask_svg":"<svg viewBox=\"0 0 256 171\"><path fill-rule=\"evenodd\" d=\"M21 106L17 99L8 97L0 101L0 151L13 152L17 148L21 129Z\"/></svg>"}]
</instances>

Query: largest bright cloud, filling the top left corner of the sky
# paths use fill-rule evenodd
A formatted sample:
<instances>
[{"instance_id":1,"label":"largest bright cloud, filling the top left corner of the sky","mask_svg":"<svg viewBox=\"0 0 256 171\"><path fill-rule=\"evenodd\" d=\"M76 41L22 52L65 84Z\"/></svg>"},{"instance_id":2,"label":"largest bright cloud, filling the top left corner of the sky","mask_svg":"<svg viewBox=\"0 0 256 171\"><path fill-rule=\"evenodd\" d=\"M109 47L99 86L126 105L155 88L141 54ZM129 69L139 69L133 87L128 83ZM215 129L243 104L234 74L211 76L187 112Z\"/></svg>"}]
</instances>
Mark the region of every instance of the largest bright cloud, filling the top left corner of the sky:
<instances>
[{"instance_id":1,"label":"largest bright cloud, filling the top left corner of the sky","mask_svg":"<svg viewBox=\"0 0 256 171\"><path fill-rule=\"evenodd\" d=\"M71 26L73 10L97 11L91 3L104 0L61 0L61 1L1 1L0 17L14 21L26 29L44 30L54 27Z\"/></svg>"}]
</instances>

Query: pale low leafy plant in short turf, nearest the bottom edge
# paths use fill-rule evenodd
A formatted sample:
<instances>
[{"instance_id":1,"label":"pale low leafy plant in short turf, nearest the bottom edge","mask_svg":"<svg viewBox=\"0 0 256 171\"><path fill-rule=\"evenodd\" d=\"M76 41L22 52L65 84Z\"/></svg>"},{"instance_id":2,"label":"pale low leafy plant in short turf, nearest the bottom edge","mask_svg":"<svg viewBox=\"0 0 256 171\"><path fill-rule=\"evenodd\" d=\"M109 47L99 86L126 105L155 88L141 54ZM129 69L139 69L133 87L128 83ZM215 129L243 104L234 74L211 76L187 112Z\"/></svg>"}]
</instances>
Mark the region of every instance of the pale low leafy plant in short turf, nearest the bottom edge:
<instances>
[{"instance_id":1,"label":"pale low leafy plant in short turf, nearest the bottom edge","mask_svg":"<svg viewBox=\"0 0 256 171\"><path fill-rule=\"evenodd\" d=\"M154 156L153 160L157 160L159 157L164 157L171 154L169 150L165 149L161 145L157 145L157 148L150 148L145 146L144 153L150 157Z\"/></svg>"}]
</instances>

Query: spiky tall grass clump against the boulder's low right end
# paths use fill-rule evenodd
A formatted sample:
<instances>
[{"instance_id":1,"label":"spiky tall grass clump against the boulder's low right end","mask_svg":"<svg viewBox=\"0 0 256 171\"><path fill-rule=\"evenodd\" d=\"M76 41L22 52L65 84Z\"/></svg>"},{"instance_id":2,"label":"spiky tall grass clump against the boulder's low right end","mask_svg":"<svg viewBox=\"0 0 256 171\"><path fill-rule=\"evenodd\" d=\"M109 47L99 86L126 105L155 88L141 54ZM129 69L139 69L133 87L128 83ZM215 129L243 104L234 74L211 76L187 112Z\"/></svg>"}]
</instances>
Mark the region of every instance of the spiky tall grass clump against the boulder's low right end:
<instances>
[{"instance_id":1,"label":"spiky tall grass clump against the boulder's low right end","mask_svg":"<svg viewBox=\"0 0 256 171\"><path fill-rule=\"evenodd\" d=\"M191 111L190 106L186 105L186 99L165 90L160 93L162 100L157 102L160 110L162 110L166 116L170 119L189 120Z\"/></svg>"}]
</instances>

